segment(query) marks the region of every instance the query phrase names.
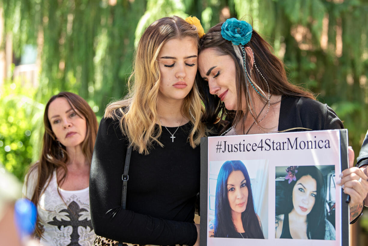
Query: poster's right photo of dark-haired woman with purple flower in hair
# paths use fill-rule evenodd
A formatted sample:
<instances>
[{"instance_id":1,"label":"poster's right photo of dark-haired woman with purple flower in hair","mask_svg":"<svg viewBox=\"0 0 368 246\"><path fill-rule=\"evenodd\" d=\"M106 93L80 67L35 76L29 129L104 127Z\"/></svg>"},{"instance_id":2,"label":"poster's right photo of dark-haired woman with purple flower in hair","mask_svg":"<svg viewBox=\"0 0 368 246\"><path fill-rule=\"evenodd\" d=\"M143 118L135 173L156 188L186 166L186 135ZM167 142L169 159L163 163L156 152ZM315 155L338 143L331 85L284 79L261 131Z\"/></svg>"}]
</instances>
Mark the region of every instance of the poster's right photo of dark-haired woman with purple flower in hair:
<instances>
[{"instance_id":1,"label":"poster's right photo of dark-haired woman with purple flower in hair","mask_svg":"<svg viewBox=\"0 0 368 246\"><path fill-rule=\"evenodd\" d=\"M275 238L335 240L335 166L276 167Z\"/></svg>"}]
</instances>

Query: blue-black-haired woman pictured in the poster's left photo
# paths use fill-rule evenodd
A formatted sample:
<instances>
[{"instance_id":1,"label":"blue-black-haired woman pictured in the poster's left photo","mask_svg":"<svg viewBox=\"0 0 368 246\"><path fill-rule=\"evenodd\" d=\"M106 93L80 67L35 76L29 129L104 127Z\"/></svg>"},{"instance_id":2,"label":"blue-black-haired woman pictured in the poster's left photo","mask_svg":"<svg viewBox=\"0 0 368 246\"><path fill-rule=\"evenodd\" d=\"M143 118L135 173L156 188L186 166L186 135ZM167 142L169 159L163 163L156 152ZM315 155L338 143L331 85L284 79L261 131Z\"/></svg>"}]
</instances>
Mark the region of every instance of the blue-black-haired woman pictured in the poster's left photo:
<instances>
[{"instance_id":1,"label":"blue-black-haired woman pictured in the poster's left photo","mask_svg":"<svg viewBox=\"0 0 368 246\"><path fill-rule=\"evenodd\" d=\"M215 218L209 236L216 238L264 239L261 219L254 209L251 180L244 163L222 164L216 183Z\"/></svg>"}]
</instances>

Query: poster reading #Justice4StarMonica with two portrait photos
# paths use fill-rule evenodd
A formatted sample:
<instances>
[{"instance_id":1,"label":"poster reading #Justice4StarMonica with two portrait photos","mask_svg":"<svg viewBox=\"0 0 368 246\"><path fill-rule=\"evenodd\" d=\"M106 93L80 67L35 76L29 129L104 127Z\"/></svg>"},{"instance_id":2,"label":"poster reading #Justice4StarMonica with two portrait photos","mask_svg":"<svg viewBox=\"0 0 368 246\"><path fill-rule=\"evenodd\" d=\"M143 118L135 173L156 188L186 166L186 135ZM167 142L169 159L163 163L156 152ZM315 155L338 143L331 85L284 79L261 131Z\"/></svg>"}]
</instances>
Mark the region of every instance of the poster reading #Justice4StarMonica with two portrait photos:
<instances>
[{"instance_id":1,"label":"poster reading #Justice4StarMonica with two portrait photos","mask_svg":"<svg viewBox=\"0 0 368 246\"><path fill-rule=\"evenodd\" d=\"M347 167L346 129L202 138L201 246L348 245Z\"/></svg>"}]
</instances>

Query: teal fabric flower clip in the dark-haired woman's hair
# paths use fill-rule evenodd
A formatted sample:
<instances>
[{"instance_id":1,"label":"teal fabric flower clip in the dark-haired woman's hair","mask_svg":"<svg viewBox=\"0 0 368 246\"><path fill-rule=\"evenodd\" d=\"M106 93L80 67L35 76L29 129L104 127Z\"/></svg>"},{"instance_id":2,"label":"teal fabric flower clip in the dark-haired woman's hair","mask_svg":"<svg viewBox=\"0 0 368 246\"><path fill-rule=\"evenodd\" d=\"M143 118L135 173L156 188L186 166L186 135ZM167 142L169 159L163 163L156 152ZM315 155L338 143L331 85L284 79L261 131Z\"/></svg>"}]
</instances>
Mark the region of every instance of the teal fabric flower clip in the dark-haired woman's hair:
<instances>
[{"instance_id":1,"label":"teal fabric flower clip in the dark-haired woman's hair","mask_svg":"<svg viewBox=\"0 0 368 246\"><path fill-rule=\"evenodd\" d=\"M233 45L245 45L252 37L252 26L246 21L236 18L227 19L221 26L221 35Z\"/></svg>"}]
</instances>

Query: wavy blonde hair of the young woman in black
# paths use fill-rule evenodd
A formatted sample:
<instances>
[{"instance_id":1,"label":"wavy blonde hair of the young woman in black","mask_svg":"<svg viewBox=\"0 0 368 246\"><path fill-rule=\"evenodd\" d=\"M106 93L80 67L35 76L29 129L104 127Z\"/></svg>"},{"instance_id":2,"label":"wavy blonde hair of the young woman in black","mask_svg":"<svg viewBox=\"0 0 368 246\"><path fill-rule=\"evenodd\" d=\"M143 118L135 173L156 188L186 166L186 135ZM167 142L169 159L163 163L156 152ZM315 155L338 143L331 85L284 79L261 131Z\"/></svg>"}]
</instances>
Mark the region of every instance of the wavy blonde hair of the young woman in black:
<instances>
[{"instance_id":1,"label":"wavy blonde hair of the young woman in black","mask_svg":"<svg viewBox=\"0 0 368 246\"><path fill-rule=\"evenodd\" d=\"M135 52L134 71L128 80L127 97L106 107L105 118L118 119L130 145L141 154L148 154L155 142L163 146L159 141L162 128L159 124L158 131L156 128L156 122L160 122L156 107L161 80L158 64L160 50L170 39L185 37L193 38L198 46L197 27L180 17L164 17L149 25ZM188 136L192 148L199 145L207 131L201 122L203 112L197 83L194 82L181 107L181 113L193 124Z\"/></svg>"}]
</instances>

